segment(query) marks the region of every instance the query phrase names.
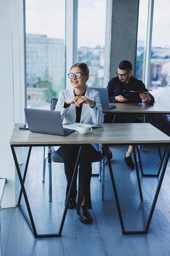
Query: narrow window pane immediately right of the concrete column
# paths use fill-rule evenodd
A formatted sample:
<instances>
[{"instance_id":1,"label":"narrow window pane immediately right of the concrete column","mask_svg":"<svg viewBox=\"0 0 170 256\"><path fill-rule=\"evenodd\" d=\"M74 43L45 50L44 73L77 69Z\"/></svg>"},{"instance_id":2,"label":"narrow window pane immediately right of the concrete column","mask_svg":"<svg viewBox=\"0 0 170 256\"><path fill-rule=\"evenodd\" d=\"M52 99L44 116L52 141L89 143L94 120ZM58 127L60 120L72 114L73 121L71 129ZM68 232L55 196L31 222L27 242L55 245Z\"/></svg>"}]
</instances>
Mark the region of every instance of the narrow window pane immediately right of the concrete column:
<instances>
[{"instance_id":1,"label":"narrow window pane immediately right of the concrete column","mask_svg":"<svg viewBox=\"0 0 170 256\"><path fill-rule=\"evenodd\" d=\"M149 4L148 0L140 0L139 2L136 78L142 81L144 81L144 78L145 78L148 4Z\"/></svg>"}]
</instances>

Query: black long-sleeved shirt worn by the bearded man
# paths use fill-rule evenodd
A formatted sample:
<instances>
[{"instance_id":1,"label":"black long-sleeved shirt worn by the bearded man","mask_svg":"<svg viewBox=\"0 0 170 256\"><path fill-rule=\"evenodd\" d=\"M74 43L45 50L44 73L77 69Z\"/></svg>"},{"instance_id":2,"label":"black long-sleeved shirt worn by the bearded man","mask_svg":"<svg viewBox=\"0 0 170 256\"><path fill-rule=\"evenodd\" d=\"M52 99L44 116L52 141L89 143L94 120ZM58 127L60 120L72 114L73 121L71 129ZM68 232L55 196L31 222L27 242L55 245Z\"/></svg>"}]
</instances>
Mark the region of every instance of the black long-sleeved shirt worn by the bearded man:
<instances>
[{"instance_id":1,"label":"black long-sleeved shirt worn by the bearded man","mask_svg":"<svg viewBox=\"0 0 170 256\"><path fill-rule=\"evenodd\" d=\"M148 92L144 83L141 80L134 78L133 76L131 76L130 81L128 83L121 82L119 80L118 76L113 77L108 82L107 88L108 88L108 98L109 98L110 102L116 102L115 96L122 95L123 97L125 97L129 91ZM153 104L154 97L152 96L152 94L150 94L150 99L151 99L151 101L149 104ZM129 103L141 103L142 99L139 101L130 101L129 100L126 103L128 103L128 102Z\"/></svg>"}]
</instances>

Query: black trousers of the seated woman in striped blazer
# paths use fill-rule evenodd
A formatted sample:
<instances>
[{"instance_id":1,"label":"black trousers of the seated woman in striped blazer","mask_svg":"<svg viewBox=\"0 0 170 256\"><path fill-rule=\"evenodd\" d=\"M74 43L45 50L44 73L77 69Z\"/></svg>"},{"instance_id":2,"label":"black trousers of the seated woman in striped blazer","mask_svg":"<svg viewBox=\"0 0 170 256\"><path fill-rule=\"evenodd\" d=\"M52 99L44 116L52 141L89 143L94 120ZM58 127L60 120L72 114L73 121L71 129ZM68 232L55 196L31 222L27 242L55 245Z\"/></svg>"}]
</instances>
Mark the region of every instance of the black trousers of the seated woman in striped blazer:
<instances>
[{"instance_id":1,"label":"black trousers of the seated woman in striped blazer","mask_svg":"<svg viewBox=\"0 0 170 256\"><path fill-rule=\"evenodd\" d=\"M88 209L92 209L91 206L91 191L90 191L90 183L91 183L91 173L92 173L92 159L94 158L97 150L91 144L83 144L81 145L82 149L79 155L79 183L78 183L78 198L77 198L77 207L79 207L82 203L83 196L85 194L85 202ZM71 180L73 177L73 172L75 168L75 163L77 161L77 155L79 152L79 146L61 146L57 153L64 160L64 170L67 179L67 187L66 187L66 198L69 192ZM72 196L77 197L77 179L73 184Z\"/></svg>"}]
</instances>

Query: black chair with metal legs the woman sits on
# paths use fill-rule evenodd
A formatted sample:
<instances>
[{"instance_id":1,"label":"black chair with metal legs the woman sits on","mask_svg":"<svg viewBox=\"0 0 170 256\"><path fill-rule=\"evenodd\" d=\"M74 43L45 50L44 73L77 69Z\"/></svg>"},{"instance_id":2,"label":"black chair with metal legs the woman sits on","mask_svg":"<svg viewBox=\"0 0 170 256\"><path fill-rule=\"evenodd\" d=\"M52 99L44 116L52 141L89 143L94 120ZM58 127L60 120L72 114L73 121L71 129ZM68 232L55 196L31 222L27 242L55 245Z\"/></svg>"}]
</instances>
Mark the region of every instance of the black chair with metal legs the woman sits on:
<instances>
[{"instance_id":1,"label":"black chair with metal legs the woman sits on","mask_svg":"<svg viewBox=\"0 0 170 256\"><path fill-rule=\"evenodd\" d=\"M51 99L51 110L55 110L55 106L57 104L58 99ZM54 150L53 147L49 148L50 152L51 152L51 159L53 162L55 163L64 163L63 159L60 157L60 155L58 155L58 153ZM43 152L43 174L42 174L42 182L45 182L45 168L46 168L46 159L48 159L49 157L45 157L45 146L44 146L44 152ZM99 151L96 158L93 159L93 163L94 162L100 162L102 161L102 159L104 159L102 153ZM104 159L105 160L105 159ZM103 181L103 177L104 177L104 171L103 171L103 175L102 175L102 169L104 170L104 164L100 164L100 168L99 168L99 174L94 173L92 174L92 176L99 176L99 180L102 181L102 189L104 191L104 181ZM51 182L51 163L49 163L49 202L52 201L52 182Z\"/></svg>"}]
</instances>

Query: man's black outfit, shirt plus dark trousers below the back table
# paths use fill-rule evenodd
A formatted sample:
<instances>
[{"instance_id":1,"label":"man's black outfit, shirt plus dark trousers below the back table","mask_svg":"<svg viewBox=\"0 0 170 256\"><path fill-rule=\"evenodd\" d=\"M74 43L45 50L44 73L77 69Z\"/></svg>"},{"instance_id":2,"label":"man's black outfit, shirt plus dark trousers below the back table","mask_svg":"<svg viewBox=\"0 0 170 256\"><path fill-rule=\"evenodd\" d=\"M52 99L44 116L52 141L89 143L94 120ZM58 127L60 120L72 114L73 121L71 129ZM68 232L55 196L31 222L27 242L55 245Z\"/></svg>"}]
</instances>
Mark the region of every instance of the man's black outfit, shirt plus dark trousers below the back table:
<instances>
[{"instance_id":1,"label":"man's black outfit, shirt plus dark trousers below the back table","mask_svg":"<svg viewBox=\"0 0 170 256\"><path fill-rule=\"evenodd\" d=\"M144 83L141 80L134 78L133 76L131 76L130 81L126 84L124 82L121 82L118 76L113 77L108 82L107 88L108 88L108 98L110 102L119 102L119 101L115 101L115 96L121 95L125 97L129 91L148 92ZM149 104L153 104L154 97L151 94L150 94L150 99L151 101ZM127 102L119 102L119 103L127 104L127 103L141 103L141 102L142 102L142 99L138 101L129 100ZM112 123L113 117L114 117L114 114L113 115L105 114L104 123ZM141 118L137 114L130 115L128 113L120 113L115 115L114 122L115 123L132 123L132 122L140 123Z\"/></svg>"}]
</instances>

